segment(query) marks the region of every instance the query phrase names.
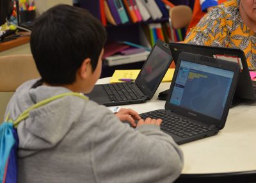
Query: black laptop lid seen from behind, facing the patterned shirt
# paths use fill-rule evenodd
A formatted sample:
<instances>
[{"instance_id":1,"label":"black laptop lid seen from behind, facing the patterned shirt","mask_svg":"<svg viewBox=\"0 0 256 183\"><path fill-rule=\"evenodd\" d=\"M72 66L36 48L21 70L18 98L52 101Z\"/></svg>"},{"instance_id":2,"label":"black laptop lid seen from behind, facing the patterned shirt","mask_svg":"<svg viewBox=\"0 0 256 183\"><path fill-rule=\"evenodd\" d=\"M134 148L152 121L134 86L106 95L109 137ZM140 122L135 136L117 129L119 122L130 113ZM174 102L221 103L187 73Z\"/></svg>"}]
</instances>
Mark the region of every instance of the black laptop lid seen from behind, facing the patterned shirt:
<instances>
[{"instance_id":1,"label":"black laptop lid seen from behind, facing the patterned shirt","mask_svg":"<svg viewBox=\"0 0 256 183\"><path fill-rule=\"evenodd\" d=\"M169 44L173 60L177 63L177 58L180 52L192 52L204 56L220 58L223 60L238 61L241 67L239 79L237 81L237 88L234 94L235 97L241 99L255 99L255 92L253 90L253 81L250 77L248 65L244 52L241 49L228 48L228 47L214 47L205 45L182 44L177 42L170 42Z\"/></svg>"}]
</instances>

